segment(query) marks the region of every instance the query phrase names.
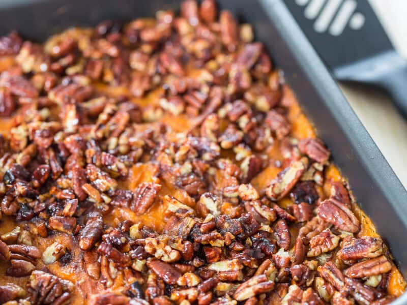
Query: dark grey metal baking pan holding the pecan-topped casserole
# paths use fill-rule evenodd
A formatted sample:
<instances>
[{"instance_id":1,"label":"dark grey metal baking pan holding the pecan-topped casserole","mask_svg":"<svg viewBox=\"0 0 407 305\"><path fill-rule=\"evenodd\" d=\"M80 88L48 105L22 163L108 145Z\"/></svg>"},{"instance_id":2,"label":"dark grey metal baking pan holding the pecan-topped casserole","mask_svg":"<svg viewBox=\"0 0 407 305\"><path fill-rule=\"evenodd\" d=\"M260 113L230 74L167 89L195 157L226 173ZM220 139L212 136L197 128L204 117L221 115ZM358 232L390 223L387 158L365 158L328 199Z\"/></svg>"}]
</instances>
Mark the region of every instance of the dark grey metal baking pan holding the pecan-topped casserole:
<instances>
[{"instance_id":1,"label":"dark grey metal baking pan holding the pecan-topped casserole","mask_svg":"<svg viewBox=\"0 0 407 305\"><path fill-rule=\"evenodd\" d=\"M160 9L179 7L176 0L2 0L0 34L16 29L43 41L73 25L96 25L105 19L131 20ZM407 192L342 96L338 86L280 0L219 0L240 21L249 22L256 39L284 71L305 113L348 177L362 209L387 241L407 277ZM404 294L394 304L407 303Z\"/></svg>"}]
</instances>

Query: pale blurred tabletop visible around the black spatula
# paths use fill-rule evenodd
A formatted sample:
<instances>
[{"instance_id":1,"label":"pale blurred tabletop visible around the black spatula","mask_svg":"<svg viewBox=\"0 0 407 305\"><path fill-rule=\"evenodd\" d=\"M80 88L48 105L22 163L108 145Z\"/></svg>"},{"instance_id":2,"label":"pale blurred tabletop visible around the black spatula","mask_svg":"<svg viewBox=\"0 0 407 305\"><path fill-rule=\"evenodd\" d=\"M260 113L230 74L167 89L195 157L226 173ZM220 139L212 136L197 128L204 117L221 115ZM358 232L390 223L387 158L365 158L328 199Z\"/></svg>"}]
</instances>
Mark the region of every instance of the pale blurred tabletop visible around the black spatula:
<instances>
[{"instance_id":1,"label":"pale blurred tabletop visible around the black spatula","mask_svg":"<svg viewBox=\"0 0 407 305\"><path fill-rule=\"evenodd\" d=\"M407 1L369 0L397 51L407 57ZM339 84L367 131L407 189L407 120L380 90ZM407 84L405 84L407 86Z\"/></svg>"}]
</instances>

